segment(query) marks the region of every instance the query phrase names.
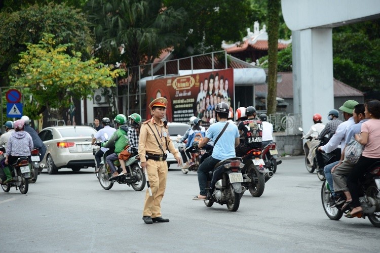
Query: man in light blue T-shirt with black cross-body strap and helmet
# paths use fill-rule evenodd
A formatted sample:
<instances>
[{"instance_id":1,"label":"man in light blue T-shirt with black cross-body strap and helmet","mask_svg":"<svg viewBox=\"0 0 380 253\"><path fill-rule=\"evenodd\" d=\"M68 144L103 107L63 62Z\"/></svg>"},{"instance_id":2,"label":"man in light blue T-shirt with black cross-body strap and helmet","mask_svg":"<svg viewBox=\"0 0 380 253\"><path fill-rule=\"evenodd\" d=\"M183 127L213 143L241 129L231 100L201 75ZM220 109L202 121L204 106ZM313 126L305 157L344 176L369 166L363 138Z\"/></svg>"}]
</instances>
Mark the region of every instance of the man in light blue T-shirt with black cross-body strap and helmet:
<instances>
[{"instance_id":1,"label":"man in light blue T-shirt with black cross-body strap and helmet","mask_svg":"<svg viewBox=\"0 0 380 253\"><path fill-rule=\"evenodd\" d=\"M212 155L207 157L198 168L198 183L200 193L195 196L194 200L206 200L207 192L207 173L214 169L214 166L221 160L235 157L235 147L239 145L239 131L235 124L229 123L224 133L220 136L215 144L216 138L227 124L230 107L228 104L221 102L215 107L217 123L210 125L206 137L198 144L198 148L205 146L210 140L214 142ZM194 145L193 145L194 147ZM197 148L197 147L196 147Z\"/></svg>"}]
</instances>

